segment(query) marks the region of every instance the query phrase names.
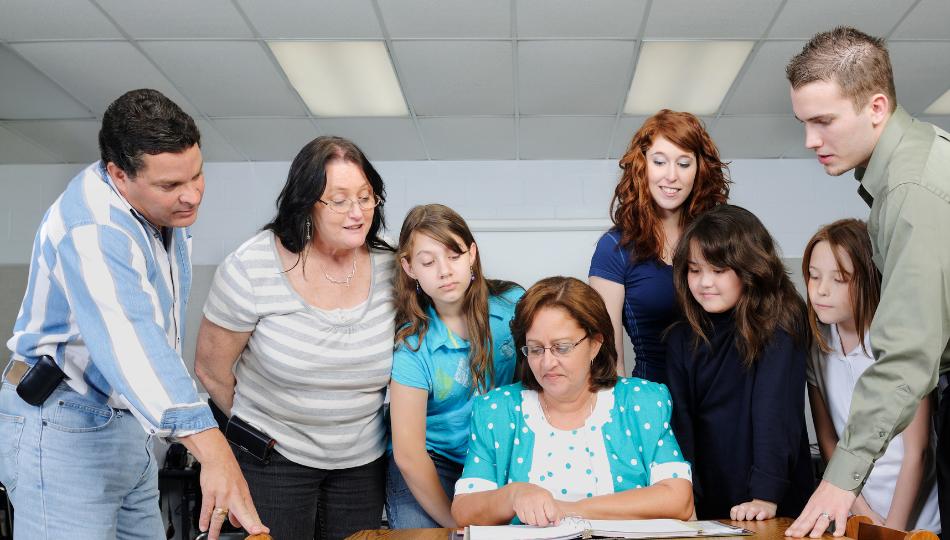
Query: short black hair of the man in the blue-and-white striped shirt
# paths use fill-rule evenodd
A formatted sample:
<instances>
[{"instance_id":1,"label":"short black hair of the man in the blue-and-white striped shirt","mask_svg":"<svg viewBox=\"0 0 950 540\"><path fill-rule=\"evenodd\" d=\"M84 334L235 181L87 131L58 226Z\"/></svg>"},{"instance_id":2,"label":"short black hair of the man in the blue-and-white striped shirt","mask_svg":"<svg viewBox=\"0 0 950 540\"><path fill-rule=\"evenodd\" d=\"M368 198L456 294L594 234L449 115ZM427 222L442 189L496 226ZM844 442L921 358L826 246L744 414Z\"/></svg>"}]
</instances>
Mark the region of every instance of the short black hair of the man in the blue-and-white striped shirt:
<instances>
[{"instance_id":1,"label":"short black hair of the man in the blue-and-white striped shirt","mask_svg":"<svg viewBox=\"0 0 950 540\"><path fill-rule=\"evenodd\" d=\"M195 121L158 90L122 94L102 115L99 155L135 178L143 154L179 153L201 144Z\"/></svg>"}]
</instances>

